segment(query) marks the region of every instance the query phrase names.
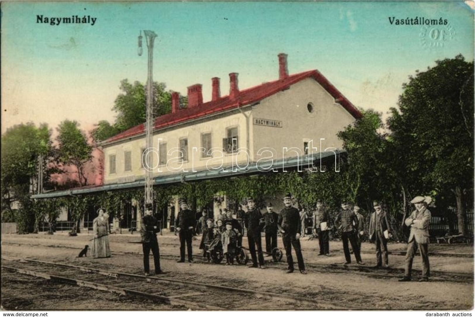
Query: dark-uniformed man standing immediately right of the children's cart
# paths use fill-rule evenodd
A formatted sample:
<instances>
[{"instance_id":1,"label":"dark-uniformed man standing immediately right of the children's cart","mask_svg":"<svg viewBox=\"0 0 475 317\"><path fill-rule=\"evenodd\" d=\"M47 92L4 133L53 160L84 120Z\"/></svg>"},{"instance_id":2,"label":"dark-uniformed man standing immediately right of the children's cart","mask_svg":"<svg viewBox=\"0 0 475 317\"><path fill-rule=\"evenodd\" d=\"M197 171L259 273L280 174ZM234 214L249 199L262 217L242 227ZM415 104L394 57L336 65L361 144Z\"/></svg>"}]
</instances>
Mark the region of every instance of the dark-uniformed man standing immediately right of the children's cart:
<instances>
[{"instance_id":1,"label":"dark-uniformed man standing immediately right of the children's cart","mask_svg":"<svg viewBox=\"0 0 475 317\"><path fill-rule=\"evenodd\" d=\"M264 254L262 253L262 240L261 230L264 226L264 216L261 211L256 208L254 198L247 198L247 212L245 214L246 228L247 228L247 241L249 242L249 252L251 253L252 265L250 268L265 269L264 266ZM257 256L256 256L257 247ZM259 260L259 265L257 265Z\"/></svg>"}]
</instances>

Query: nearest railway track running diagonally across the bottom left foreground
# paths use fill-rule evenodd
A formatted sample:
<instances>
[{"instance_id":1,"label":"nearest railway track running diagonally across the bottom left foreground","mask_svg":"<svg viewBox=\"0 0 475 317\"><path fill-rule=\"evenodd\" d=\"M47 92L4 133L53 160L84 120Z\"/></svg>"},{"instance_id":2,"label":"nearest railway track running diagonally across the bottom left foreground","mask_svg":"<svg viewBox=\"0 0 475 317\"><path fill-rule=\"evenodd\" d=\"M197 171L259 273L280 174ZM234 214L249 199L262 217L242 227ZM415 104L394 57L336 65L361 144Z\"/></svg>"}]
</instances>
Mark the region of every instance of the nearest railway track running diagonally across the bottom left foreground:
<instances>
[{"instance_id":1,"label":"nearest railway track running diagonally across the bottom left foreground","mask_svg":"<svg viewBox=\"0 0 475 317\"><path fill-rule=\"evenodd\" d=\"M149 298L170 305L198 310L242 309L368 309L354 304L276 294L267 291L168 279L95 269L66 263L2 256L2 270L12 270L59 283L67 283L122 295ZM58 270L61 268L61 270ZM54 274L52 274L54 273ZM81 279L76 277L80 276ZM132 287L131 287L132 286ZM140 289L140 290L139 290ZM259 298L250 306L249 297ZM192 300L183 299L192 298ZM226 307L222 307L226 303ZM277 306L278 305L278 306Z\"/></svg>"}]
</instances>

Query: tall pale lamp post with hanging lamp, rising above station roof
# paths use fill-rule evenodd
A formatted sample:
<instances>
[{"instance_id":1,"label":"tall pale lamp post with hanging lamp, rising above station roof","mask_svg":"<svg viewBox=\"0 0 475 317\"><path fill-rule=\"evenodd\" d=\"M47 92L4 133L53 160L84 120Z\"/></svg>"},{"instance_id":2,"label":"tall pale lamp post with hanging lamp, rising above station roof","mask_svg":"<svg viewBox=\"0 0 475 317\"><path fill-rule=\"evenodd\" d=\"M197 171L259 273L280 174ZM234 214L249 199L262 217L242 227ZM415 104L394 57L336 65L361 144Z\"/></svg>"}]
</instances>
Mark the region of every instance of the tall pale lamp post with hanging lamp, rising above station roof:
<instances>
[{"instance_id":1,"label":"tall pale lamp post with hanging lamp, rising above station roof","mask_svg":"<svg viewBox=\"0 0 475 317\"><path fill-rule=\"evenodd\" d=\"M145 39L147 41L148 47L148 73L147 73L147 121L146 121L146 134L145 134L145 148L147 153L148 149L152 148L152 132L153 132L153 78L152 78L152 64L153 64L153 41L157 35L155 32L150 30L144 30ZM139 35L139 56L142 55L142 31ZM145 156L145 205L153 203L153 171L152 171L152 162L151 156Z\"/></svg>"}]
</instances>

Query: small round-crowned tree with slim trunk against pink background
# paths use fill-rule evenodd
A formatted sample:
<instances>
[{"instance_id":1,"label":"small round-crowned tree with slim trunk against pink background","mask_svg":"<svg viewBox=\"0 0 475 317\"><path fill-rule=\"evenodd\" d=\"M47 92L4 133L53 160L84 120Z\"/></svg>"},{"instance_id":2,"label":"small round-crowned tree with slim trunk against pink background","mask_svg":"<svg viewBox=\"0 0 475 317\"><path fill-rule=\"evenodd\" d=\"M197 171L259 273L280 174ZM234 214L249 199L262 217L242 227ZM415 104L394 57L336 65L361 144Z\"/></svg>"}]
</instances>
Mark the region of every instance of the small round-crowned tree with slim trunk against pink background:
<instances>
[{"instance_id":1,"label":"small round-crowned tree with slim trunk against pink background","mask_svg":"<svg viewBox=\"0 0 475 317\"><path fill-rule=\"evenodd\" d=\"M76 121L65 120L59 124L58 155L64 165L75 166L78 181L81 186L86 185L84 175L85 163L92 159L92 146L88 144L84 131L79 130Z\"/></svg>"}]
</instances>

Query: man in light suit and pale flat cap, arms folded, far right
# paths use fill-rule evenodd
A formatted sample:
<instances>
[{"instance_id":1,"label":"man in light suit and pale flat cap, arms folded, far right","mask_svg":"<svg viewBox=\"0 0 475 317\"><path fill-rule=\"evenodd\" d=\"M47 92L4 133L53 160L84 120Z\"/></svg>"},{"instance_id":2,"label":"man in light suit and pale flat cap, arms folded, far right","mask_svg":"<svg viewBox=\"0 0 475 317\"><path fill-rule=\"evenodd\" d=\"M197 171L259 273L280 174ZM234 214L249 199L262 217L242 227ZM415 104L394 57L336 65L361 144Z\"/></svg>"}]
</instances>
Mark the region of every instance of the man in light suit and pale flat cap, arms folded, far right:
<instances>
[{"instance_id":1,"label":"man in light suit and pale flat cap, arms folded, far right","mask_svg":"<svg viewBox=\"0 0 475 317\"><path fill-rule=\"evenodd\" d=\"M427 282L429 280L429 223L430 223L430 211L427 208L425 197L417 196L411 200L411 204L416 206L409 218L404 223L411 228L409 234L408 252L406 253L406 268L405 274L400 282L406 282L411 280L412 260L416 254L416 249L419 247L419 252L422 258L422 278L419 282Z\"/></svg>"}]
</instances>

